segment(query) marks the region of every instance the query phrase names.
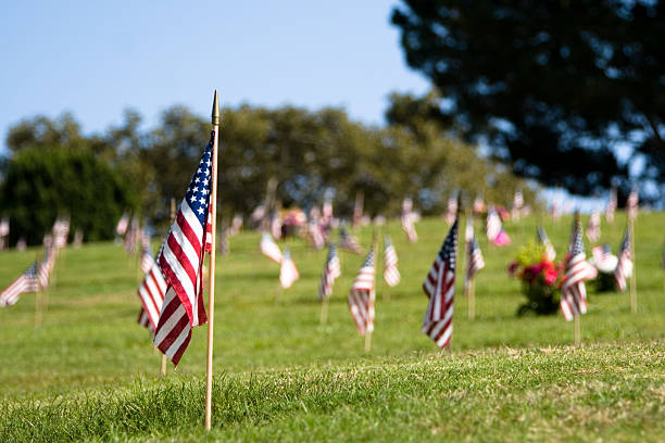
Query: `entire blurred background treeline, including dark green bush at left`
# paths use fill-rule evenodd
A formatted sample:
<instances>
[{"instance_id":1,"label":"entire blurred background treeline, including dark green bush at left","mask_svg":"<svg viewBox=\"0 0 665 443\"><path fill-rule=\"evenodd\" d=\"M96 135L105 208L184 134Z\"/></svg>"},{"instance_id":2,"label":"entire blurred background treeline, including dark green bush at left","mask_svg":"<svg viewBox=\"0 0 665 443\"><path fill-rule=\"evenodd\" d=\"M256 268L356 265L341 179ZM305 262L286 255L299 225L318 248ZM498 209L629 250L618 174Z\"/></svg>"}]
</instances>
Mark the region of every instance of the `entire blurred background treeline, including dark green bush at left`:
<instances>
[{"instance_id":1,"label":"entire blurred background treeline, including dark green bush at left","mask_svg":"<svg viewBox=\"0 0 665 443\"><path fill-rule=\"evenodd\" d=\"M219 214L228 220L251 213L271 178L284 207L308 208L329 192L341 216L351 214L357 191L367 214L386 216L399 213L405 195L424 214L441 213L456 189L509 205L519 188L534 202L535 191L507 168L451 138L428 115L434 106L427 98L393 94L384 127L332 107L224 109ZM125 211L164 226L168 202L183 198L209 137L209 117L179 105L153 128L127 110L122 124L93 135L84 135L71 114L20 122L9 131L1 167L0 215L11 218L11 241L40 241L57 215L71 215L72 229L84 229L88 240L112 238Z\"/></svg>"}]
</instances>

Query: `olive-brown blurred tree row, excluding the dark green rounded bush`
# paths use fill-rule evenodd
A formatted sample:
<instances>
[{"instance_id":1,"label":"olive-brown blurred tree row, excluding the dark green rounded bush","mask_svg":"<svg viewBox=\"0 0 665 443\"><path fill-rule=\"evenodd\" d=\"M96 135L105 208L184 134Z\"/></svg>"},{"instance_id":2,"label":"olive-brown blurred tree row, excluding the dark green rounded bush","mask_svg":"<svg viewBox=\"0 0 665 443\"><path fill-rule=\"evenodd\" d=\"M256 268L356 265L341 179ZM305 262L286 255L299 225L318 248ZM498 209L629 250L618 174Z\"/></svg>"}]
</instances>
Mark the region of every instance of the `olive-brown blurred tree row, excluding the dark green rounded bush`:
<instances>
[{"instance_id":1,"label":"olive-brown blurred tree row, excluding the dark green rounded bush","mask_svg":"<svg viewBox=\"0 0 665 443\"><path fill-rule=\"evenodd\" d=\"M324 192L335 190L335 211L342 216L351 214L359 191L371 215L398 214L405 195L425 214L440 213L448 197L462 188L469 198L484 192L504 205L519 188L535 203L535 191L524 181L450 138L436 122L400 110L411 103L407 96L393 96L385 128L353 122L343 110L330 107L224 109L219 213L226 219L251 213L264 201L271 179L278 183L276 198L284 206L321 204ZM12 128L7 142L14 155L50 145L92 152L123 176L143 213L165 225L168 203L183 198L209 135L208 118L173 106L152 129L142 128L140 115L127 110L120 125L89 137L68 114L54 121L39 116Z\"/></svg>"}]
</instances>

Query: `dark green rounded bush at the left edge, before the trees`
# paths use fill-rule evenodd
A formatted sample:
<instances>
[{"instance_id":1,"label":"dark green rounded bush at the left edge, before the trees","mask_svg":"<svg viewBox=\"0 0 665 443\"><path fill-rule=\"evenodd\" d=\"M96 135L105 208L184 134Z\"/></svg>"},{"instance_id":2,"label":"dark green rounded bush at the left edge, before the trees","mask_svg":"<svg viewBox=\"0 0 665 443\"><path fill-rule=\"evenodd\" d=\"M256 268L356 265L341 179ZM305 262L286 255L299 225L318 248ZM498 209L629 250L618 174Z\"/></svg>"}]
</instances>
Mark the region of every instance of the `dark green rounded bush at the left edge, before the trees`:
<instances>
[{"instance_id":1,"label":"dark green rounded bush at the left edge, before the trees","mask_svg":"<svg viewBox=\"0 0 665 443\"><path fill-rule=\"evenodd\" d=\"M11 242L40 244L58 216L86 240L113 238L115 223L134 205L121 177L89 151L24 149L12 157L0 189L0 213L11 220Z\"/></svg>"}]
</instances>

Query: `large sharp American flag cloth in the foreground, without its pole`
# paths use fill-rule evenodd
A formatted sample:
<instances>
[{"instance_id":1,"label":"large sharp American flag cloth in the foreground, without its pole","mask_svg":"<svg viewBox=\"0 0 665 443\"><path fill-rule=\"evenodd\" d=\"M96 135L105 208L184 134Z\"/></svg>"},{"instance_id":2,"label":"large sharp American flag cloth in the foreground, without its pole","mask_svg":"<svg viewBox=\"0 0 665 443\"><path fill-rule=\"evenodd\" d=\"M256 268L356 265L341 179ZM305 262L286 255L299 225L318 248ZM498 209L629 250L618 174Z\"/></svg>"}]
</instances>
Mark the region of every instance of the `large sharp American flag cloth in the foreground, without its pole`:
<instances>
[{"instance_id":1,"label":"large sharp American flag cloth in the foreground, without its pole","mask_svg":"<svg viewBox=\"0 0 665 443\"><path fill-rule=\"evenodd\" d=\"M158 262L166 282L166 293L154 344L174 365L178 364L189 344L191 328L208 321L203 306L202 267L214 138L212 131Z\"/></svg>"}]
</instances>

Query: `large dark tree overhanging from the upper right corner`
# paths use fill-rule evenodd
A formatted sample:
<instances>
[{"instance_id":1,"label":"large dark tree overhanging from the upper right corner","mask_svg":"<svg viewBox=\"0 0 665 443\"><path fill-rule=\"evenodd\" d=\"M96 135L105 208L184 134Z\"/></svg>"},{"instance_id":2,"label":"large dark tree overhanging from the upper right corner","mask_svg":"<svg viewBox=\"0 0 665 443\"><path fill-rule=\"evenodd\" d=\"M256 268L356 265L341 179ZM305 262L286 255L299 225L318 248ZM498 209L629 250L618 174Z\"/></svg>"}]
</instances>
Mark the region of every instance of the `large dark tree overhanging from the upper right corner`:
<instances>
[{"instance_id":1,"label":"large dark tree overhanging from the upper right corner","mask_svg":"<svg viewBox=\"0 0 665 443\"><path fill-rule=\"evenodd\" d=\"M620 145L644 160L642 178L665 178L664 18L657 0L403 0L391 21L453 134L520 176L591 194L627 188Z\"/></svg>"}]
</instances>

